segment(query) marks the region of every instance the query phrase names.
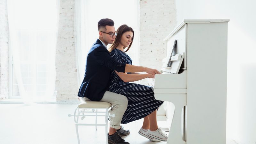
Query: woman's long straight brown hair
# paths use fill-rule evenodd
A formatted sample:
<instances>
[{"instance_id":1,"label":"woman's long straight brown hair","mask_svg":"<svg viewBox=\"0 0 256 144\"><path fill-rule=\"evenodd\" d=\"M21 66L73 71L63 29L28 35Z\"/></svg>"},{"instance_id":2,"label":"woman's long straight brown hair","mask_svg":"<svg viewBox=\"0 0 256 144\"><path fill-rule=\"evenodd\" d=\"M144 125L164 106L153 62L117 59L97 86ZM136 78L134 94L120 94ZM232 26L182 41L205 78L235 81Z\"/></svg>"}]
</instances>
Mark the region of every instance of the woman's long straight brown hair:
<instances>
[{"instance_id":1,"label":"woman's long straight brown hair","mask_svg":"<svg viewBox=\"0 0 256 144\"><path fill-rule=\"evenodd\" d=\"M122 26L120 26L119 28L117 28L117 35L116 35L116 39L115 39L115 41L114 41L114 43L113 44L111 44L111 46L108 48L108 51L109 52L111 52L111 51L113 51L116 47L117 47L117 45L120 43L120 41L121 41L121 38L122 38L122 35L125 33L125 32L127 32L127 31L131 31L132 32L132 34L133 34L133 36L132 36L132 42L133 42L133 38L134 38L134 31L133 31L133 29L131 28L131 27L128 27L127 25L122 25ZM129 49L130 49L130 47L132 46L132 42L131 42L131 44L129 45L129 47L128 47L128 49L125 51L125 52L127 52ZM125 48L125 47L124 47Z\"/></svg>"}]
</instances>

